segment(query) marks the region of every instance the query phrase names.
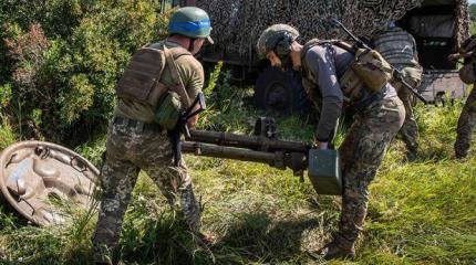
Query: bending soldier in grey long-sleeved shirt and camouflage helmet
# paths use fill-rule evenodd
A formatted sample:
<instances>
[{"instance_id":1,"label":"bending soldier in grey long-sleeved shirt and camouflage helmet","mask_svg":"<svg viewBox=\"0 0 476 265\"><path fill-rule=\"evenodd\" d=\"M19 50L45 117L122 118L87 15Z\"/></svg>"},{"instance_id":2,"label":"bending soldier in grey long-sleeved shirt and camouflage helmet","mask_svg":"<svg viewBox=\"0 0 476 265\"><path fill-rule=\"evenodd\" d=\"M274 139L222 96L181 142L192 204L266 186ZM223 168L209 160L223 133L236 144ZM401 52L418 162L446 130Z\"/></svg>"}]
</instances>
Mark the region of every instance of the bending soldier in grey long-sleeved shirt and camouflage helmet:
<instances>
[{"instance_id":1,"label":"bending soldier in grey long-sleeved shirt and camouflage helmet","mask_svg":"<svg viewBox=\"0 0 476 265\"><path fill-rule=\"evenodd\" d=\"M310 251L327 259L353 258L354 243L366 215L369 184L402 127L405 109L392 85L382 82L381 86L373 87L370 85L373 80L364 83L363 76L351 67L359 60L354 54L359 50L340 41L311 40L301 45L298 36L294 28L275 24L261 33L257 49L272 66L302 72L304 89L320 108L315 132L319 149L330 148L344 107L354 115L339 148L344 186L339 231L330 243ZM375 52L368 54L371 53L380 56Z\"/></svg>"}]
</instances>

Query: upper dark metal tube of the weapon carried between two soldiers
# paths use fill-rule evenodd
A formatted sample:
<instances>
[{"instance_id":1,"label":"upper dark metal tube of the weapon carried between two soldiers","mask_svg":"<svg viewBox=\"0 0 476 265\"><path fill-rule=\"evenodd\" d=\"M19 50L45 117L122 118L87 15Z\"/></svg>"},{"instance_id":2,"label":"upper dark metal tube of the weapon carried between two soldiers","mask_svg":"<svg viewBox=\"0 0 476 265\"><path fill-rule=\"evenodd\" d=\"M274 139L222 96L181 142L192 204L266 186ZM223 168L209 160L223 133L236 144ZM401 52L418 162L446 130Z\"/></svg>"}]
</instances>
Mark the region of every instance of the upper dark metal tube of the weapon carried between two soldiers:
<instances>
[{"instance_id":1,"label":"upper dark metal tube of the weapon carried between two soldiers","mask_svg":"<svg viewBox=\"0 0 476 265\"><path fill-rule=\"evenodd\" d=\"M287 150L289 152L307 153L311 148L310 145L300 141L282 141L269 139L265 136L246 136L209 130L190 130L190 138L187 140L262 151Z\"/></svg>"}]
</instances>

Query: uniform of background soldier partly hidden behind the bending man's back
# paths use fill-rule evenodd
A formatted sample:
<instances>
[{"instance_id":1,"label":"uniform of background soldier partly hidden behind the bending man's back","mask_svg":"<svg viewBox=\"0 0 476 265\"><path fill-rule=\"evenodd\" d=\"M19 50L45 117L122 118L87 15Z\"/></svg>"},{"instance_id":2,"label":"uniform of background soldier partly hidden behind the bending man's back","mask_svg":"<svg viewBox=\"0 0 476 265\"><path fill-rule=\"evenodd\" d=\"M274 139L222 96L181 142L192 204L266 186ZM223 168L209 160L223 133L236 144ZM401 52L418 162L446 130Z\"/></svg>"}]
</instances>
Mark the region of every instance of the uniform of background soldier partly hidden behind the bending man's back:
<instances>
[{"instance_id":1,"label":"uniform of background soldier partly hidden behind the bending man's back","mask_svg":"<svg viewBox=\"0 0 476 265\"><path fill-rule=\"evenodd\" d=\"M392 64L400 70L403 80L413 88L417 88L422 81L422 66L415 60L417 57L415 39L406 31L397 26L392 26L383 32L380 32L373 40L375 50ZM399 136L405 142L408 150L408 159L413 160L416 157L418 148L418 125L416 124L413 114L414 98L412 92L404 87L397 81L392 82L400 99L405 106L405 123L399 132Z\"/></svg>"}]
</instances>

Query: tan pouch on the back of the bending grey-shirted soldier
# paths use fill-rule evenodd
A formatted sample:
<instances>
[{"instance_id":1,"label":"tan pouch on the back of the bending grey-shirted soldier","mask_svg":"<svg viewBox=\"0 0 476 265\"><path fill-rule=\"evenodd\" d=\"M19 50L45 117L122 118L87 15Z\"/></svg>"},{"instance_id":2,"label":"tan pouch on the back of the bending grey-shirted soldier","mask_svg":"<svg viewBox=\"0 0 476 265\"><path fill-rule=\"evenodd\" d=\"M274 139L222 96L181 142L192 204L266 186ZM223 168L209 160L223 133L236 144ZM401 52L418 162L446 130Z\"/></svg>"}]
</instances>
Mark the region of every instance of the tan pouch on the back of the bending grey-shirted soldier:
<instances>
[{"instance_id":1,"label":"tan pouch on the back of the bending grey-shirted soldier","mask_svg":"<svg viewBox=\"0 0 476 265\"><path fill-rule=\"evenodd\" d=\"M380 92L393 77L392 66L375 50L358 49L351 68L373 92Z\"/></svg>"}]
</instances>

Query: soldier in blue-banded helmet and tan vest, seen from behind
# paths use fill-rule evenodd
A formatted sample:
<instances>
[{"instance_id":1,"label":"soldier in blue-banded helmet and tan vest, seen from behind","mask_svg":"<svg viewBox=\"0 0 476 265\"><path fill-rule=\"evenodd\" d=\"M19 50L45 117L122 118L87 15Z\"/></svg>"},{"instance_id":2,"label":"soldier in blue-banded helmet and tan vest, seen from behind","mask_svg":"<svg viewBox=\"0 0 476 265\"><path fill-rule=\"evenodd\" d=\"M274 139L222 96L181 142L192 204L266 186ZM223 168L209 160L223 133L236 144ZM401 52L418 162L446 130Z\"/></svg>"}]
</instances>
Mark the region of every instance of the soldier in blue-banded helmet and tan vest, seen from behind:
<instances>
[{"instance_id":1,"label":"soldier in blue-banded helmet and tan vest, seen from behind","mask_svg":"<svg viewBox=\"0 0 476 265\"><path fill-rule=\"evenodd\" d=\"M96 264L118 261L122 222L139 170L154 180L186 229L208 240L200 233L201 210L187 167L174 161L168 130L176 123L170 113L184 112L203 88L204 70L194 55L206 40L213 43L210 31L204 10L178 9L168 24L169 36L139 49L117 83L117 106L100 177L101 209L93 237ZM197 119L189 119L188 127Z\"/></svg>"}]
</instances>

